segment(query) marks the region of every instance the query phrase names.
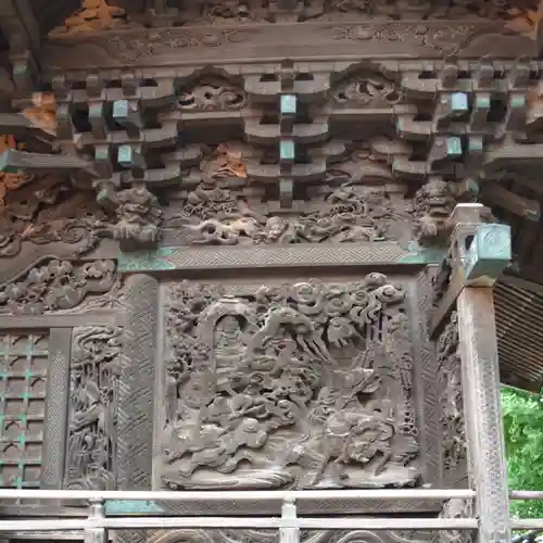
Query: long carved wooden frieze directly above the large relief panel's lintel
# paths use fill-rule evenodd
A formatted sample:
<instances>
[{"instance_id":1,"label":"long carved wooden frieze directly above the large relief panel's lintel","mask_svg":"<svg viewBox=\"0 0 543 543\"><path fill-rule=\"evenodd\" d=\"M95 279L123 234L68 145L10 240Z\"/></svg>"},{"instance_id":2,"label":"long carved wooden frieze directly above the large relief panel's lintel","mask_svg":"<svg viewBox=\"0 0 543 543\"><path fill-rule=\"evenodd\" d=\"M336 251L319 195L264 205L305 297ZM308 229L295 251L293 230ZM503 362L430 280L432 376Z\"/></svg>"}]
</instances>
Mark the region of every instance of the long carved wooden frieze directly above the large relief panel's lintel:
<instances>
[{"instance_id":1,"label":"long carved wooden frieze directly above the large relief panel's lintel","mask_svg":"<svg viewBox=\"0 0 543 543\"><path fill-rule=\"evenodd\" d=\"M265 215L224 189L204 186L187 194L164 228L180 227L189 244L348 243L409 238L411 217L382 189L346 182L294 217Z\"/></svg>"}]
</instances>

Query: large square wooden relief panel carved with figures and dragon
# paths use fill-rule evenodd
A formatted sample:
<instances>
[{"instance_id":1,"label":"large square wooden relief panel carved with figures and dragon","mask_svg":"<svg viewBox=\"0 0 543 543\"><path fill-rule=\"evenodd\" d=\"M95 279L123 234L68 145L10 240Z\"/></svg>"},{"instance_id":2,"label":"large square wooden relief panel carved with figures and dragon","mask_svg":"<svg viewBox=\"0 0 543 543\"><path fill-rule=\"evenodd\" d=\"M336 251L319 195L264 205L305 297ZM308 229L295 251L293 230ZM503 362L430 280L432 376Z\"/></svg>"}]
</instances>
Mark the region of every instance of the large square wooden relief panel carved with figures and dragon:
<instances>
[{"instance_id":1,"label":"large square wooden relief panel carved with figures and dragon","mask_svg":"<svg viewBox=\"0 0 543 543\"><path fill-rule=\"evenodd\" d=\"M161 476L182 488L418 477L404 292L357 283L169 291Z\"/></svg>"}]
</instances>

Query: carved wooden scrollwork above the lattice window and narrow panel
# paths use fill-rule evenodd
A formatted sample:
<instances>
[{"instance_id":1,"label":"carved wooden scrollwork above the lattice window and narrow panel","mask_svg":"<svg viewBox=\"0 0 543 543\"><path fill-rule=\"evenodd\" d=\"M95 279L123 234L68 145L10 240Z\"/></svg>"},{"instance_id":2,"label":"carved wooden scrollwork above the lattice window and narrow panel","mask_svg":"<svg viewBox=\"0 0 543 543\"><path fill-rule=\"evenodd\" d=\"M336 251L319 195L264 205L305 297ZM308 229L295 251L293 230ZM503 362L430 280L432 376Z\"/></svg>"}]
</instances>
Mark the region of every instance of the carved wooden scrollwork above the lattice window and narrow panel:
<instances>
[{"instance_id":1,"label":"carved wooden scrollwork above the lattice window and narrow panel","mask_svg":"<svg viewBox=\"0 0 543 543\"><path fill-rule=\"evenodd\" d=\"M108 292L115 282L115 263L81 265L50 261L31 268L24 278L0 287L0 313L39 315L71 310L89 294Z\"/></svg>"}]
</instances>

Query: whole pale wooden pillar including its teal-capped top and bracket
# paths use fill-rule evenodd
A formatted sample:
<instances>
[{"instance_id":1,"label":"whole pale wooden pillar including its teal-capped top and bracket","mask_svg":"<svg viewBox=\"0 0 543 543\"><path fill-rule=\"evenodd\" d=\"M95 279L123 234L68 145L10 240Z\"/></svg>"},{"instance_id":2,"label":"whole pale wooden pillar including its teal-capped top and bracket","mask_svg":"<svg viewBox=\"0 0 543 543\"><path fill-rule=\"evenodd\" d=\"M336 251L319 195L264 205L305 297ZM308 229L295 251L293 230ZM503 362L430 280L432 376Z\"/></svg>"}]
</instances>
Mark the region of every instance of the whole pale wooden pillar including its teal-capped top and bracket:
<instances>
[{"instance_id":1,"label":"whole pale wooden pillar including its teal-capped top and bracket","mask_svg":"<svg viewBox=\"0 0 543 543\"><path fill-rule=\"evenodd\" d=\"M510 261L510 230L484 224L483 215L480 204L460 204L451 216L451 249L438 274L430 332L435 338L457 318L469 484L477 493L473 513L480 522L477 539L506 543L512 535L493 286Z\"/></svg>"}]
</instances>

